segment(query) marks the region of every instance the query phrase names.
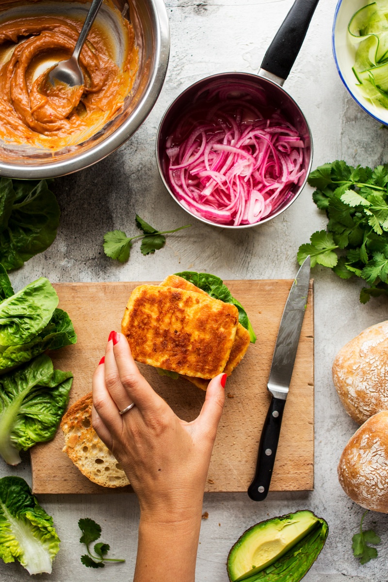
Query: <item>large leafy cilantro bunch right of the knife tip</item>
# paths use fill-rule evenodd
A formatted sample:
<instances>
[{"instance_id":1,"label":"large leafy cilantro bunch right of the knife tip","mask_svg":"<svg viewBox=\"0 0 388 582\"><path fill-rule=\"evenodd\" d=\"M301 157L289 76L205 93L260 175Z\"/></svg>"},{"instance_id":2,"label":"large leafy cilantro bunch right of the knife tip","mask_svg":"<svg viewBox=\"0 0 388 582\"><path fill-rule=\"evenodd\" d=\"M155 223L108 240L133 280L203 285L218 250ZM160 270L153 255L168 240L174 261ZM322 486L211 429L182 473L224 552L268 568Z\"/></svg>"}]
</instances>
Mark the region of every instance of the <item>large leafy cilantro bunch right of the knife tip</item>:
<instances>
[{"instance_id":1,"label":"large leafy cilantro bunch right of the knife tip","mask_svg":"<svg viewBox=\"0 0 388 582\"><path fill-rule=\"evenodd\" d=\"M388 295L388 164L353 168L344 161L319 166L308 183L315 204L326 212L328 226L302 244L298 262L311 256L341 279L366 282L359 300Z\"/></svg>"}]
</instances>

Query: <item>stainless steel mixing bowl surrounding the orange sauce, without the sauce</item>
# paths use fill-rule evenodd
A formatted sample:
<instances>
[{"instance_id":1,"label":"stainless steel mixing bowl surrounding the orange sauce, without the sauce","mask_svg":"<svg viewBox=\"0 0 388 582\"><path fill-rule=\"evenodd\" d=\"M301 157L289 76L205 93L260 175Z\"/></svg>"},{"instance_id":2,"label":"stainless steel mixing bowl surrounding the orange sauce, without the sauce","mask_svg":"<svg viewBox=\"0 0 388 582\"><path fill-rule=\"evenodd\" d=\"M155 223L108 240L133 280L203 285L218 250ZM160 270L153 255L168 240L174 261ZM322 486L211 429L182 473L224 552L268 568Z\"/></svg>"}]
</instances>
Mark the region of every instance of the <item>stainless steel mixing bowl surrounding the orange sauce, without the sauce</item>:
<instances>
[{"instance_id":1,"label":"stainless steel mixing bowl surrounding the orange sauce, without the sauce","mask_svg":"<svg viewBox=\"0 0 388 582\"><path fill-rule=\"evenodd\" d=\"M169 60L170 33L165 4L163 0L113 0L113 4L133 24L139 50L136 81L122 110L84 143L56 152L0 140L0 176L41 179L77 172L117 150L147 118L163 86ZM0 19L6 19L7 6L1 10L0 2ZM26 10L47 10L47 6L47 2L30 2L26 3ZM69 7L74 6L74 2L69 2ZM77 5L85 15L89 7L90 3ZM100 10L102 18L109 17L105 4Z\"/></svg>"}]
</instances>

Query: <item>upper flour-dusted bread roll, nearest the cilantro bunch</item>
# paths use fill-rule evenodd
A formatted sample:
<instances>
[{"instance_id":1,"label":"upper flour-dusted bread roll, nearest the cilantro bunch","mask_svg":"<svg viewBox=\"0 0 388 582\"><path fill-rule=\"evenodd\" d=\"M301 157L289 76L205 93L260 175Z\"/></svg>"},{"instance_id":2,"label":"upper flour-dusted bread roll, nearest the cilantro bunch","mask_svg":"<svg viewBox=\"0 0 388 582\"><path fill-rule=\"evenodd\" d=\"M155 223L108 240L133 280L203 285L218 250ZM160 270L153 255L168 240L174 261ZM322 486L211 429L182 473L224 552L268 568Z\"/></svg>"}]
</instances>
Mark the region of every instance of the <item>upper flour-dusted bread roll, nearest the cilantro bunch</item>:
<instances>
[{"instance_id":1,"label":"upper flour-dusted bread roll, nearest the cilantro bunch","mask_svg":"<svg viewBox=\"0 0 388 582\"><path fill-rule=\"evenodd\" d=\"M388 410L388 321L364 329L340 350L333 382L356 423Z\"/></svg>"}]
</instances>

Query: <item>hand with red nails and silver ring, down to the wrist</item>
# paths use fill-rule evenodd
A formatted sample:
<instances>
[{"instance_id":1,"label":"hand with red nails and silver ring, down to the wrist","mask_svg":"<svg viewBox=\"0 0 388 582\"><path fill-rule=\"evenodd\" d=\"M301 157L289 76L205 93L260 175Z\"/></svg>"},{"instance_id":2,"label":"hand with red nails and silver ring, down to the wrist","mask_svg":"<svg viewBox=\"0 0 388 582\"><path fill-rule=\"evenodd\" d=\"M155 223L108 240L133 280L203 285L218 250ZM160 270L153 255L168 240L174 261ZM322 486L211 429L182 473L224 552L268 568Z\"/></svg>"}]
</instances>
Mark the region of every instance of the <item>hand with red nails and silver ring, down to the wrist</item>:
<instances>
[{"instance_id":1,"label":"hand with red nails and silver ring, down to the wrist","mask_svg":"<svg viewBox=\"0 0 388 582\"><path fill-rule=\"evenodd\" d=\"M209 383L200 415L187 423L140 374L125 336L109 336L105 362L93 377L92 425L126 472L143 523L201 514L225 381L220 374ZM120 416L131 402L136 406Z\"/></svg>"}]
</instances>

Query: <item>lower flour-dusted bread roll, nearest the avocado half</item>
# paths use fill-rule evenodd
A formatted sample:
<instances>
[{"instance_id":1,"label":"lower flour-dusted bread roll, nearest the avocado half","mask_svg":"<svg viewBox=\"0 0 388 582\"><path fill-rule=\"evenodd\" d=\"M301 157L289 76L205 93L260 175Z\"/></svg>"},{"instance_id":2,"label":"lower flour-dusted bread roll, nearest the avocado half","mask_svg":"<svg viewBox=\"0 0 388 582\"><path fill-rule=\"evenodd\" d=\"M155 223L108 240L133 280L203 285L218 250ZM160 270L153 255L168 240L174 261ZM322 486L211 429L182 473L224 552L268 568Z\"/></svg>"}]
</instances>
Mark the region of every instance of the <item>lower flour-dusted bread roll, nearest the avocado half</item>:
<instances>
[{"instance_id":1,"label":"lower flour-dusted bread roll, nearest the avocado half","mask_svg":"<svg viewBox=\"0 0 388 582\"><path fill-rule=\"evenodd\" d=\"M358 505L388 513L388 411L375 414L355 432L341 455L338 478Z\"/></svg>"}]
</instances>

